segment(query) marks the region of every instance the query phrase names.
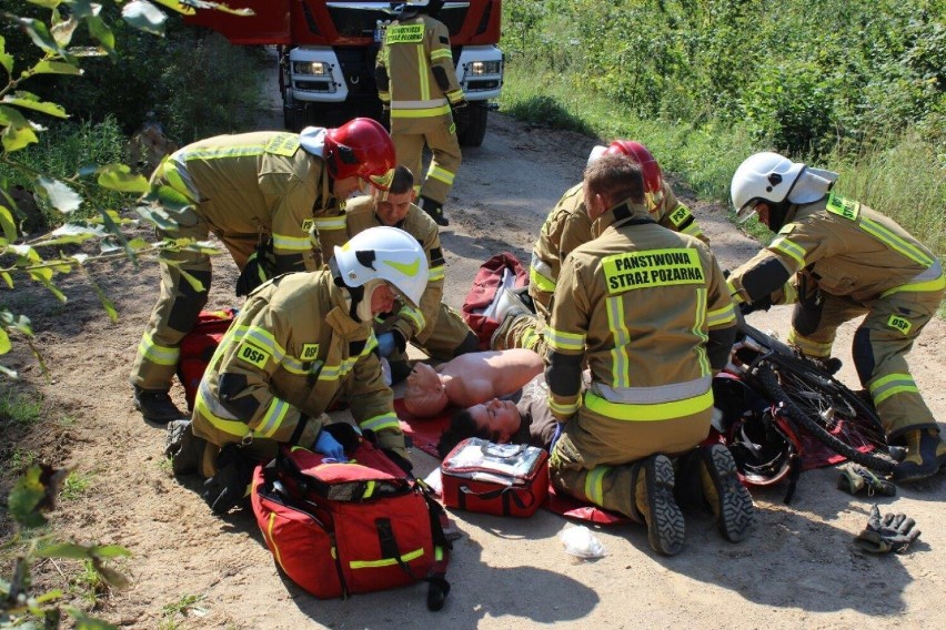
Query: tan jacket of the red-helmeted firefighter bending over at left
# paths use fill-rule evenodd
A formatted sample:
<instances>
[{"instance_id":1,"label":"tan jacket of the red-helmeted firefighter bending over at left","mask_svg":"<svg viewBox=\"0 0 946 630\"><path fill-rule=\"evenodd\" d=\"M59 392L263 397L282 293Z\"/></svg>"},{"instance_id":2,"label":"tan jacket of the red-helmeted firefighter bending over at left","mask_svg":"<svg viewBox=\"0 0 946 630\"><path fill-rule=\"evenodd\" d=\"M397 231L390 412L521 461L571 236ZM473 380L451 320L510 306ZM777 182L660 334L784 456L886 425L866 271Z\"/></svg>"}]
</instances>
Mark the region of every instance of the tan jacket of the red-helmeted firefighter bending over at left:
<instances>
[{"instance_id":1,"label":"tan jacket of the red-helmeted firefighter bending over at left","mask_svg":"<svg viewBox=\"0 0 946 630\"><path fill-rule=\"evenodd\" d=\"M272 234L280 272L316 268L309 231L338 228L340 213L322 158L295 133L260 131L189 144L162 164L171 186L197 202L212 231ZM341 224L343 226L343 223Z\"/></svg>"}]
</instances>

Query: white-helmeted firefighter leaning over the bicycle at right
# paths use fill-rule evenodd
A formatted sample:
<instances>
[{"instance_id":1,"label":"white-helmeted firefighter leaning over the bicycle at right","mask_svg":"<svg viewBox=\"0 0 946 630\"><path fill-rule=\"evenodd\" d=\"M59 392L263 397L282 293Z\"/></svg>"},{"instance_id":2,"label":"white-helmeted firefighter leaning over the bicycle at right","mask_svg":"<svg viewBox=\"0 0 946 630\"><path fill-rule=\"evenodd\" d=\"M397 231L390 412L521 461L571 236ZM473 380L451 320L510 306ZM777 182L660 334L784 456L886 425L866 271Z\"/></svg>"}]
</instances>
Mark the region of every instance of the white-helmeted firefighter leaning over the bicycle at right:
<instances>
[{"instance_id":1,"label":"white-helmeted firefighter leaning over the bicycle at right","mask_svg":"<svg viewBox=\"0 0 946 630\"><path fill-rule=\"evenodd\" d=\"M907 447L894 479L924 479L946 466L946 443L906 355L943 301L943 265L893 220L831 192L837 176L771 152L739 165L737 216L757 214L776 236L733 272L732 294L746 311L795 302L788 342L823 362L837 327L866 315L852 348L857 376L887 441Z\"/></svg>"}]
</instances>

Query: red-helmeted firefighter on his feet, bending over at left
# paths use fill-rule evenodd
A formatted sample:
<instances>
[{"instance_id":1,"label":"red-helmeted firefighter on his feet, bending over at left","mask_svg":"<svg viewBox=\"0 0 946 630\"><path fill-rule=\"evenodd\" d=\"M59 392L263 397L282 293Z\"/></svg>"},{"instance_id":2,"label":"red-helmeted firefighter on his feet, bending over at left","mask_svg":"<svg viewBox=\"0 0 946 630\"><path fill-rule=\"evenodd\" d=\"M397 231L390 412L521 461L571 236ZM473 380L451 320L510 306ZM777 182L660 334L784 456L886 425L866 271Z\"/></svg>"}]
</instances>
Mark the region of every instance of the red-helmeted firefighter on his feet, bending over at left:
<instances>
[{"instance_id":1,"label":"red-helmeted firefighter on his feet, bending over at left","mask_svg":"<svg viewBox=\"0 0 946 630\"><path fill-rule=\"evenodd\" d=\"M153 195L177 197L183 207L174 228L160 238L207 240L215 234L243 272L242 292L266 275L322 266L309 231L344 228L340 203L370 182L385 186L394 162L391 138L381 124L355 119L338 129L306 128L301 134L254 132L195 142L168 156L151 176ZM190 205L188 205L190 204ZM258 257L265 250L269 273ZM192 281L197 281L197 284ZM168 392L181 339L207 304L211 264L207 254L161 254L161 295L151 313L131 370L135 407L147 420L181 417Z\"/></svg>"}]
</instances>

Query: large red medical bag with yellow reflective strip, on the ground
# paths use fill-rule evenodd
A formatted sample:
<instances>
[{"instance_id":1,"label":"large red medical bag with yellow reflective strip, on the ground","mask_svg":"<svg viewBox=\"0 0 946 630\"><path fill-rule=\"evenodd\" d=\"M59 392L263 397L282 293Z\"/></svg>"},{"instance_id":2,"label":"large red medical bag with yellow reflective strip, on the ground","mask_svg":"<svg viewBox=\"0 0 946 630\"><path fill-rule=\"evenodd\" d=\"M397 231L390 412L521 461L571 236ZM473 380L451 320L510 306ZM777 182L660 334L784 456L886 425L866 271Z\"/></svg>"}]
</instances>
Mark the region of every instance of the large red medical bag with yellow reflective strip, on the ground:
<instances>
[{"instance_id":1,"label":"large red medical bag with yellow reflective strip, on the ground","mask_svg":"<svg viewBox=\"0 0 946 630\"><path fill-rule=\"evenodd\" d=\"M443 508L365 439L345 463L286 447L256 467L251 489L276 565L313 596L344 598L426 581L427 608L443 606L450 590Z\"/></svg>"}]
</instances>

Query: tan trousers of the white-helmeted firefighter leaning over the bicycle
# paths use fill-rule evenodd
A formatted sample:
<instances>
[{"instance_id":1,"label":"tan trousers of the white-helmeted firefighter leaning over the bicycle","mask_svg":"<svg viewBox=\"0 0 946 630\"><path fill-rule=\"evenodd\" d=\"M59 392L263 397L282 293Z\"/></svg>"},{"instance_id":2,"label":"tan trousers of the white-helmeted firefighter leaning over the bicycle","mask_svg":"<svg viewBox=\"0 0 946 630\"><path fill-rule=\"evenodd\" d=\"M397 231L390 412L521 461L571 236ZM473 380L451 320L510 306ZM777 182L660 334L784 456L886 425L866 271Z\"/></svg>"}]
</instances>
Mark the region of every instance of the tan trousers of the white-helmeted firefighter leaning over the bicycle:
<instances>
[{"instance_id":1,"label":"tan trousers of the white-helmeted firefighter leaning over the bicycle","mask_svg":"<svg viewBox=\"0 0 946 630\"><path fill-rule=\"evenodd\" d=\"M854 333L852 355L861 385L874 400L887 440L907 430L936 428L936 419L909 373L906 355L943 301L943 291L897 292L867 303L822 293L796 304L788 343L815 358L831 356L837 328L866 315Z\"/></svg>"}]
</instances>

